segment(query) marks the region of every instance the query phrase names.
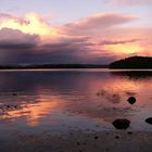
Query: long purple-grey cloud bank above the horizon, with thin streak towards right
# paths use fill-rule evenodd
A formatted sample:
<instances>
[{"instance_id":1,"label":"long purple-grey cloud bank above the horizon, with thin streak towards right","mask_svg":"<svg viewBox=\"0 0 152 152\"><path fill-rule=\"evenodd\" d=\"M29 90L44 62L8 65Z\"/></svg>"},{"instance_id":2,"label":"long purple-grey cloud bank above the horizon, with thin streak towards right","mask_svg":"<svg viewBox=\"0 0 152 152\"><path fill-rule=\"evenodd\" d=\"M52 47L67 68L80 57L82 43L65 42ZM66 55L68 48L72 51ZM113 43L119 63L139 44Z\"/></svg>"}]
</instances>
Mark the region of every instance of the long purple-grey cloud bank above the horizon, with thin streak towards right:
<instances>
[{"instance_id":1,"label":"long purple-grey cloud bank above the horizon, with thin streak towards right","mask_svg":"<svg viewBox=\"0 0 152 152\"><path fill-rule=\"evenodd\" d=\"M99 41L90 36L73 36L42 43L37 35L3 28L0 30L0 64L110 63L116 56L104 50L104 45L136 41L138 39Z\"/></svg>"}]
</instances>

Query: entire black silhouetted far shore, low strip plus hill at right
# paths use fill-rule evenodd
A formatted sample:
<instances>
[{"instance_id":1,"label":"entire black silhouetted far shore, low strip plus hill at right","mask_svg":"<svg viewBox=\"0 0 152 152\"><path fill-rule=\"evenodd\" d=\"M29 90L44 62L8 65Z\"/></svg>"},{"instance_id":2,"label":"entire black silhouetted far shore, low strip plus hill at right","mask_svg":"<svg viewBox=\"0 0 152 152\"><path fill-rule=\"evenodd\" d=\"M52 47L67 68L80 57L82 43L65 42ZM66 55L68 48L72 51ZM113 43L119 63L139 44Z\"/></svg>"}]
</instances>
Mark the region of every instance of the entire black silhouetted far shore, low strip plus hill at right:
<instances>
[{"instance_id":1,"label":"entire black silhouetted far shore, low strip plus hill at right","mask_svg":"<svg viewBox=\"0 0 152 152\"><path fill-rule=\"evenodd\" d=\"M152 58L130 56L111 64L13 64L0 65L0 69L48 69L48 68L110 68L110 69L152 69Z\"/></svg>"}]
</instances>

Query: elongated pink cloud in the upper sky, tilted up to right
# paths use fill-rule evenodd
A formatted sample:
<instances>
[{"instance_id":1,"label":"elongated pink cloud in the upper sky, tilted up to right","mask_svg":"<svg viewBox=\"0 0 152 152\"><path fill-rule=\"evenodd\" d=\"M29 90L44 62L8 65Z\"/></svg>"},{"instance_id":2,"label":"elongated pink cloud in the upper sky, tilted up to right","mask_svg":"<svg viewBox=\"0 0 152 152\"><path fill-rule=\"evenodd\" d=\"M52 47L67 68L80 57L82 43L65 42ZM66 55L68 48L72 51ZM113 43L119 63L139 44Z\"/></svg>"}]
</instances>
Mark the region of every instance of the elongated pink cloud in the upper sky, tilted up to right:
<instances>
[{"instance_id":1,"label":"elongated pink cloud in the upper sky, tilted up to right","mask_svg":"<svg viewBox=\"0 0 152 152\"><path fill-rule=\"evenodd\" d=\"M102 30L111 27L115 27L122 24L136 21L138 17L135 15L119 14L119 13L101 13L86 18L81 18L77 22L65 24L61 29L68 34L83 34L91 30Z\"/></svg>"}]
</instances>

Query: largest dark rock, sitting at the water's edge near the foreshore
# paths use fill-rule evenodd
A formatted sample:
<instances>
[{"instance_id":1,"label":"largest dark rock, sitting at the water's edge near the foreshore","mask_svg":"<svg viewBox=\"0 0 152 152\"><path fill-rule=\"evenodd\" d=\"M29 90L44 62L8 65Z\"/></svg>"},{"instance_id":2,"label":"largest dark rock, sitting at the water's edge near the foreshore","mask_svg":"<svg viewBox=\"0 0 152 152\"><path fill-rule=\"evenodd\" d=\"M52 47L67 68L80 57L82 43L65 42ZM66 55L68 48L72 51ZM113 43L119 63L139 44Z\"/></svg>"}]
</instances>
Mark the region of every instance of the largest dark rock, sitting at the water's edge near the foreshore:
<instances>
[{"instance_id":1,"label":"largest dark rock, sitting at the water's edge near the foreshore","mask_svg":"<svg viewBox=\"0 0 152 152\"><path fill-rule=\"evenodd\" d=\"M127 129L130 125L130 121L126 118L118 118L114 121L112 124L116 129Z\"/></svg>"}]
</instances>

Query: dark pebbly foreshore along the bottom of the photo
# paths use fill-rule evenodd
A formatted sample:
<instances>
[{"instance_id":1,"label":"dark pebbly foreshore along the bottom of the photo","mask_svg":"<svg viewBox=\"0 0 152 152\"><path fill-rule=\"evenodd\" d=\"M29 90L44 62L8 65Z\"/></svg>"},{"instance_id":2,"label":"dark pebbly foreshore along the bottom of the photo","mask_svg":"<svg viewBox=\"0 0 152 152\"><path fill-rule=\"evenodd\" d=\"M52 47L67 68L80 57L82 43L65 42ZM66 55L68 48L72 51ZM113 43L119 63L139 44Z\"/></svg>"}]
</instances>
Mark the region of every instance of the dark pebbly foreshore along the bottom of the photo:
<instances>
[{"instance_id":1,"label":"dark pebbly foreshore along the bottom of the photo","mask_svg":"<svg viewBox=\"0 0 152 152\"><path fill-rule=\"evenodd\" d=\"M22 152L150 152L152 132L148 131L69 131L67 134L14 132L13 141L0 145L0 150ZM9 142L11 144L9 145ZM13 144L15 142L15 144Z\"/></svg>"}]
</instances>

